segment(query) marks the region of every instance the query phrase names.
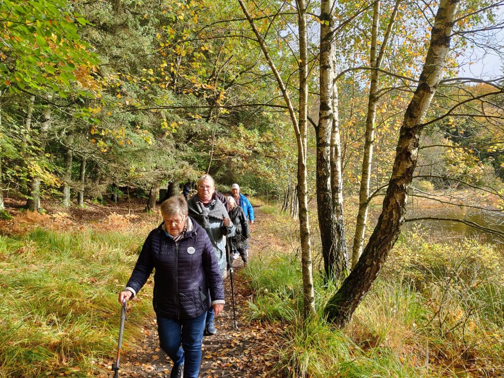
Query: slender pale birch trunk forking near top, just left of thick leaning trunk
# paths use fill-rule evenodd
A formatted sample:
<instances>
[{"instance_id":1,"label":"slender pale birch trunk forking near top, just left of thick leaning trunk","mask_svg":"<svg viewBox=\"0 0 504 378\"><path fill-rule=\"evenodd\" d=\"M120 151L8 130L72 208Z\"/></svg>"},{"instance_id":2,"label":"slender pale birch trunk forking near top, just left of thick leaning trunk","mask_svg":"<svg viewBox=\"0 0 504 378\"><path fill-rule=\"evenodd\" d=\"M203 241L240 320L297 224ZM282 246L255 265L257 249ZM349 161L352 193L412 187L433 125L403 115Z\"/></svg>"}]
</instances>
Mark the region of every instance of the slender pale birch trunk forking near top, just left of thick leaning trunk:
<instances>
[{"instance_id":1,"label":"slender pale birch trunk forking near top, just left of thick leaning trunk","mask_svg":"<svg viewBox=\"0 0 504 378\"><path fill-rule=\"evenodd\" d=\"M364 155L362 158L362 170L360 177L359 189L359 210L357 212L357 222L355 225L355 236L353 239L352 247L352 269L357 265L360 254L362 252L362 245L364 244L364 234L366 232L367 212L369 209L369 185L371 179L371 164L373 160L373 145L374 145L374 131L376 117L376 106L378 103L379 95L379 79L380 71L378 69L382 66L382 59L385 49L390 37L392 25L394 24L397 11L399 9L400 0L396 2L392 15L390 17L387 31L385 32L384 40L380 48L380 53L376 53L378 43L378 31L380 27L380 1L374 3L373 9L373 27L371 29L371 49L369 53L371 70L371 83L369 86L369 98L367 102L367 115L366 115L366 132L364 141Z\"/></svg>"}]
</instances>

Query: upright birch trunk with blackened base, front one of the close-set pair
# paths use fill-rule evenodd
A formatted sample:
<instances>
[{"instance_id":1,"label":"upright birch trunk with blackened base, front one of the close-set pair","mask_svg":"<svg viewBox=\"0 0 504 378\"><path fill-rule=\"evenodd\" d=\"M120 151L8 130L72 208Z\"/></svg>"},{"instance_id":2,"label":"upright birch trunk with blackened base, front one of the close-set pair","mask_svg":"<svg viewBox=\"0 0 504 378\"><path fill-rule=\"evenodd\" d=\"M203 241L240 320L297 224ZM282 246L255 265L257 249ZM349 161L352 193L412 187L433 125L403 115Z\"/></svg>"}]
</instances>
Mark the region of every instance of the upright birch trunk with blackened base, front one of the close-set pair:
<instances>
[{"instance_id":1,"label":"upright birch trunk with blackened base, front one of the close-set pair","mask_svg":"<svg viewBox=\"0 0 504 378\"><path fill-rule=\"evenodd\" d=\"M339 145L339 128L334 129L333 121L333 64L334 64L334 18L333 1L321 1L320 26L320 105L317 126L317 212L324 258L326 280L343 278L346 271L346 241L342 207L334 206L333 191L341 193L341 180L333 187L332 174L341 177L341 159L332 159L332 143ZM337 109L337 91L336 91ZM337 120L336 122L337 123ZM334 135L338 133L338 137ZM333 140L334 136L334 140ZM339 150L339 146L338 146ZM333 166L332 166L333 165ZM339 173L338 173L339 172ZM343 202L341 201L341 204ZM341 222L341 223L340 223Z\"/></svg>"}]
</instances>

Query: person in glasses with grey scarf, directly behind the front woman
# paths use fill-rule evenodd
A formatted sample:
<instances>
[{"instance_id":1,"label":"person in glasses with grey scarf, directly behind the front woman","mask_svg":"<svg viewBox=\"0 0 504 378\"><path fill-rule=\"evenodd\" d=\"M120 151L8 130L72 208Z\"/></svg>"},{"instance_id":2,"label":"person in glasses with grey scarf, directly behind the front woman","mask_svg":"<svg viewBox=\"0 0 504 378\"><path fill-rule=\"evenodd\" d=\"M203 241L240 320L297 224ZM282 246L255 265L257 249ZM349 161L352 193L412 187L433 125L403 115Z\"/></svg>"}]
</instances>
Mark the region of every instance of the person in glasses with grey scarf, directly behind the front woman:
<instances>
[{"instance_id":1,"label":"person in glasses with grey scarf, directly behind the front woman","mask_svg":"<svg viewBox=\"0 0 504 378\"><path fill-rule=\"evenodd\" d=\"M224 204L215 193L215 181L205 174L197 182L198 195L187 201L189 215L193 217L206 231L212 242L215 256L223 278L226 278L226 235L234 236L236 227L229 219ZM215 335L214 311L207 312L205 335Z\"/></svg>"}]
</instances>

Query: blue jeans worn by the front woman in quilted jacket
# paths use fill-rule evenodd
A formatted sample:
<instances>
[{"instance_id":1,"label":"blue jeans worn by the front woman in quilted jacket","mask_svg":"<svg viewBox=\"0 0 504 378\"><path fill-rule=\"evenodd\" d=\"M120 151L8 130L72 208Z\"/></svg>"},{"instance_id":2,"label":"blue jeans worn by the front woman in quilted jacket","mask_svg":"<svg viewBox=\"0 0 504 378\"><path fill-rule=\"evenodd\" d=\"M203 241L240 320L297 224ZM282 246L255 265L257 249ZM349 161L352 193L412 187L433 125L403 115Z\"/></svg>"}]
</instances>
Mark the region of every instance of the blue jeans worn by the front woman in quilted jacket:
<instances>
[{"instance_id":1,"label":"blue jeans worn by the front woman in quilted jacket","mask_svg":"<svg viewBox=\"0 0 504 378\"><path fill-rule=\"evenodd\" d=\"M197 318L181 320L157 316L161 349L171 358L173 366L184 364L184 378L198 378L206 317L206 312Z\"/></svg>"}]
</instances>

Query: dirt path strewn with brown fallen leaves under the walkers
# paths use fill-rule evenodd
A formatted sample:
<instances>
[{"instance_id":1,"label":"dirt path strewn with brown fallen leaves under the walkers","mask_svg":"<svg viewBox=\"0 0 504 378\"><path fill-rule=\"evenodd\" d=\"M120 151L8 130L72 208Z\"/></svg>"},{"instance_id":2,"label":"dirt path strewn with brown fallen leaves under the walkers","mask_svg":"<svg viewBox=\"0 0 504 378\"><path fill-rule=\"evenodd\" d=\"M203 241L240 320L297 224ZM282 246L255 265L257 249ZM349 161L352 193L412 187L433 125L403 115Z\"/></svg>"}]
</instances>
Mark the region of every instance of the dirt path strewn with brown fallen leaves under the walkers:
<instances>
[{"instance_id":1,"label":"dirt path strewn with brown fallen leaves under the walkers","mask_svg":"<svg viewBox=\"0 0 504 378\"><path fill-rule=\"evenodd\" d=\"M265 245L261 230L262 214L255 209L256 222L250 240L249 255L254 259ZM275 363L271 354L272 346L280 342L281 329L258 322L249 323L245 319L247 300L251 293L246 289L240 270L241 259L233 261L233 286L238 330L234 328L231 304L231 284L229 277L224 281L226 305L224 312L216 320L217 334L203 339L203 356L200 369L201 378L235 377L255 378L274 377L268 372ZM153 316L149 327L144 330L142 348L125 353L121 357L122 377L169 377L171 361L159 348L156 322ZM112 361L109 361L109 364ZM110 370L104 369L103 376ZM111 376L111 375L110 375Z\"/></svg>"}]
</instances>

